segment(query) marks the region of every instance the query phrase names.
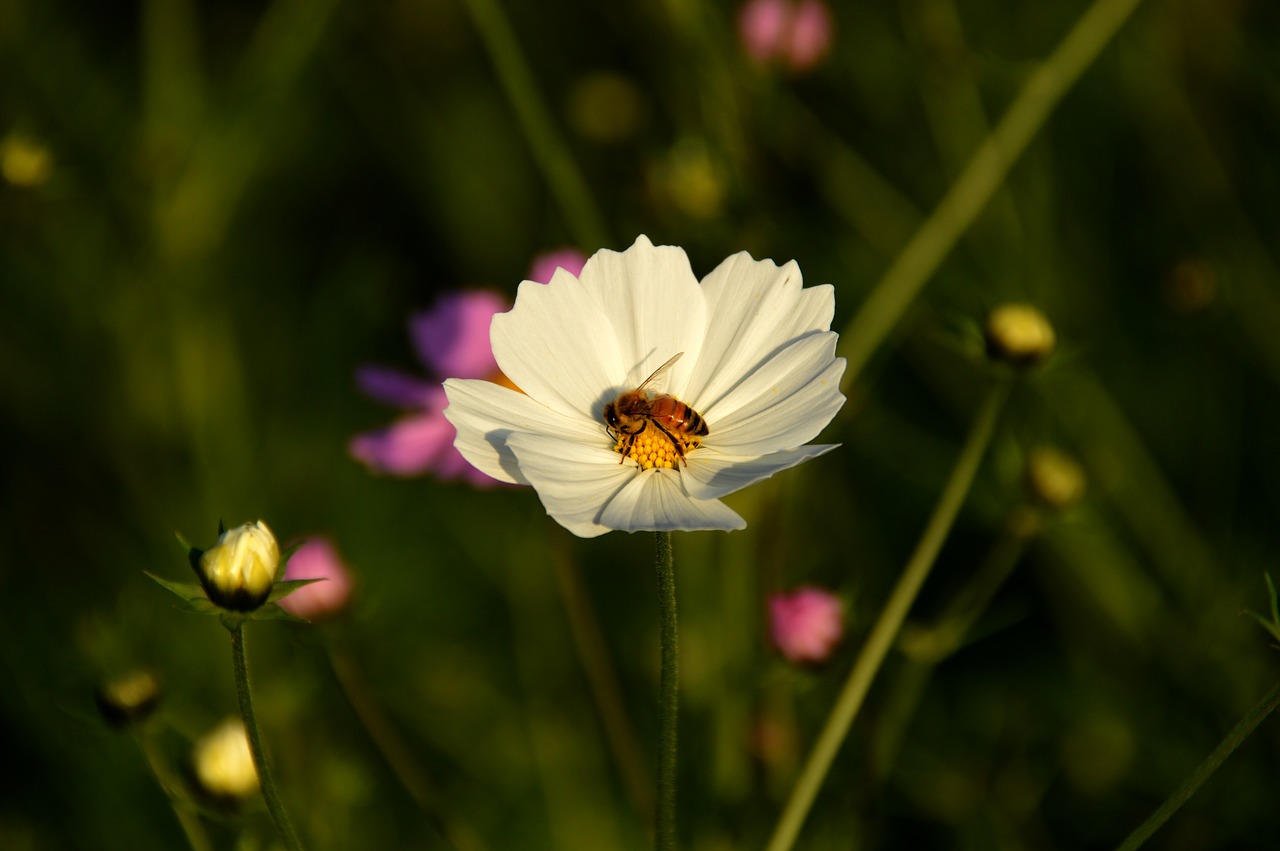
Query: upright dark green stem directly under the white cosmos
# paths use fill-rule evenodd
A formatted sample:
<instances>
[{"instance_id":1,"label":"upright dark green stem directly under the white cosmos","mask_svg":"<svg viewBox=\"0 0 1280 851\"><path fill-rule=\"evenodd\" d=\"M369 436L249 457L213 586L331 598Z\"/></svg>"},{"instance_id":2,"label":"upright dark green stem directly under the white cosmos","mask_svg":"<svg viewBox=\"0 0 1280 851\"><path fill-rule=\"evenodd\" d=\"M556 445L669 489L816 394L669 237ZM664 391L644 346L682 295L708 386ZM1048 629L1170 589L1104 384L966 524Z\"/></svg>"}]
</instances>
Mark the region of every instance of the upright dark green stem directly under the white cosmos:
<instances>
[{"instance_id":1,"label":"upright dark green stem directly under the white cosmos","mask_svg":"<svg viewBox=\"0 0 1280 851\"><path fill-rule=\"evenodd\" d=\"M658 809L654 848L676 848L676 723L678 653L676 639L676 571L671 532L657 532L658 605L662 612L662 677L658 699Z\"/></svg>"}]
</instances>

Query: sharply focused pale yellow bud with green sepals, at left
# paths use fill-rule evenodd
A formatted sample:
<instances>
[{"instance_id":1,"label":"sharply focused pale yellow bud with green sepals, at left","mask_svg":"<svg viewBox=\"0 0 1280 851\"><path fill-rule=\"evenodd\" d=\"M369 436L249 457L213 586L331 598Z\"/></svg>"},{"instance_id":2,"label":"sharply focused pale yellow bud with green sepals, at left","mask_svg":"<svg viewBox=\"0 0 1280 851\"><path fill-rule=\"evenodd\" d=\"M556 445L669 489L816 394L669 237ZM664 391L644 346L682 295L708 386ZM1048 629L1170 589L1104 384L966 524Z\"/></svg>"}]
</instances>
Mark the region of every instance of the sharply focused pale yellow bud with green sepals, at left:
<instances>
[{"instance_id":1,"label":"sharply focused pale yellow bud with green sepals, at left","mask_svg":"<svg viewBox=\"0 0 1280 851\"><path fill-rule=\"evenodd\" d=\"M227 530L200 557L200 580L224 609L252 612L266 601L280 564L280 548L266 523Z\"/></svg>"}]
</instances>

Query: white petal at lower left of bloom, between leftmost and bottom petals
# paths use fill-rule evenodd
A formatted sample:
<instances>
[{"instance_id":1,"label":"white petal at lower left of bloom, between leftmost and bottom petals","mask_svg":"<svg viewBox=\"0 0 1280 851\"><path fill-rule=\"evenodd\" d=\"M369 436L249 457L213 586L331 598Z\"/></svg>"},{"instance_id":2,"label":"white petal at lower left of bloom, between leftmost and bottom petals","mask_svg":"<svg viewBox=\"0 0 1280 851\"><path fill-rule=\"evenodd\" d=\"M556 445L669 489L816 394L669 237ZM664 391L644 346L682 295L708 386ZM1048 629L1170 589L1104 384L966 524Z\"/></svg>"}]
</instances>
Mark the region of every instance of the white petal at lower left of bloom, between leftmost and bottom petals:
<instances>
[{"instance_id":1,"label":"white petal at lower left of bloom, between leftmost and bottom petals","mask_svg":"<svg viewBox=\"0 0 1280 851\"><path fill-rule=\"evenodd\" d=\"M602 441L566 444L554 435L526 433L512 434L507 443L547 513L561 526L579 537L612 529L599 520L600 513L635 479L635 465L618 463L618 454Z\"/></svg>"}]
</instances>

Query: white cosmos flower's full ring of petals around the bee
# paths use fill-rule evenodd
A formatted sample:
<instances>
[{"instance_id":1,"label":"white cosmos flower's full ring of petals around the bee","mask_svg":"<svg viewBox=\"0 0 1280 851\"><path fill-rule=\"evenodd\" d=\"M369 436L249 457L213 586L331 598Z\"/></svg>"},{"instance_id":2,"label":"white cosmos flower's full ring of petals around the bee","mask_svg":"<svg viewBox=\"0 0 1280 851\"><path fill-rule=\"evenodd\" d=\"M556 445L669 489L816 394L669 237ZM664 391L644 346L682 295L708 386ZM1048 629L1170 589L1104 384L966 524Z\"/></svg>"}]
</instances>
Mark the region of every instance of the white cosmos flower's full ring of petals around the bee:
<instances>
[{"instance_id":1,"label":"white cosmos flower's full ring of petals around the bee","mask_svg":"<svg viewBox=\"0 0 1280 851\"><path fill-rule=\"evenodd\" d=\"M742 529L721 497L835 449L804 445L845 402L833 310L832 288L804 289L795 262L741 252L699 283L681 248L640 237L576 278L522 283L490 342L524 393L451 379L444 416L467 461L532 485L575 535ZM709 433L685 465L644 470L614 450L604 406L676 353L646 389L694 408Z\"/></svg>"}]
</instances>

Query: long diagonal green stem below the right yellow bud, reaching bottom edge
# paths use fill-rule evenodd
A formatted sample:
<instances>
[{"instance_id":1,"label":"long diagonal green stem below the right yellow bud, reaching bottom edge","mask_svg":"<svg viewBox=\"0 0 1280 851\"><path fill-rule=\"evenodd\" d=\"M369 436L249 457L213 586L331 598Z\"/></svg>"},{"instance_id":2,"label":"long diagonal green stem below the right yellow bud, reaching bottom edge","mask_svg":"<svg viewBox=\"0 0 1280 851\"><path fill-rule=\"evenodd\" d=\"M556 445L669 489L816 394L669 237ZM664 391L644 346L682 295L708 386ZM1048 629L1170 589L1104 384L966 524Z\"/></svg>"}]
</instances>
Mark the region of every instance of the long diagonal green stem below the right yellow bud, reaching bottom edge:
<instances>
[{"instance_id":1,"label":"long diagonal green stem below the right yellow bud, reaching bottom edge","mask_svg":"<svg viewBox=\"0 0 1280 851\"><path fill-rule=\"evenodd\" d=\"M800 828L809 814L809 809L813 806L818 788L827 777L827 772L836 759L836 752L845 741L854 718L858 717L858 710L863 705L863 699L867 696L868 688L870 688L872 680L876 678L881 663L884 662L890 648L893 646L899 630L902 627L902 621L920 593L924 580L929 576L938 550L942 549L942 543L946 540L947 532L950 532L951 525L955 522L956 514L964 504L965 495L969 493L969 488L978 472L982 456L987 449L987 444L991 443L991 435L996 429L1000 408L1007 394L1009 383L1000 380L991 388L979 408L937 508L933 509L933 516L929 517L929 522L924 527L924 534L920 536L911 559L908 562L902 576L897 581L897 586L881 610L879 619L872 627L870 635L867 637L867 644L863 645L861 653L859 653L856 662L854 662L854 668L849 672L849 680L845 681L845 687L840 692L840 697L836 700L836 705L831 710L822 733L818 736L813 752L809 754L809 760L805 763L804 769L800 772L800 778L791 790L791 797L787 800L786 807L782 810L782 816L778 819L773 836L769 838L768 851L787 851L800 834Z\"/></svg>"}]
</instances>

